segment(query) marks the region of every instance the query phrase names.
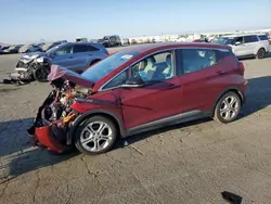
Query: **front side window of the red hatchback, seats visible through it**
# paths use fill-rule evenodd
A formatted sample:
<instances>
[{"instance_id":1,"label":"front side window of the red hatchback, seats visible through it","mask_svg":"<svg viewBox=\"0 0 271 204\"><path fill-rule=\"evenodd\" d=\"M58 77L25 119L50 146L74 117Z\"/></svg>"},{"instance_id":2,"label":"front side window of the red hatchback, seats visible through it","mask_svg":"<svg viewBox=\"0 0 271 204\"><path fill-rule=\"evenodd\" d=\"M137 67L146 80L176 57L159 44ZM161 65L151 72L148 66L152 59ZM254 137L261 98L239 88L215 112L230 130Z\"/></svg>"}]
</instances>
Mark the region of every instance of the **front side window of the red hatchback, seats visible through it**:
<instances>
[{"instance_id":1,"label":"front side window of the red hatchback, seats visible through it","mask_svg":"<svg viewBox=\"0 0 271 204\"><path fill-rule=\"evenodd\" d=\"M164 81L175 76L171 51L151 55L131 67L131 77L140 77L144 82Z\"/></svg>"}]
</instances>

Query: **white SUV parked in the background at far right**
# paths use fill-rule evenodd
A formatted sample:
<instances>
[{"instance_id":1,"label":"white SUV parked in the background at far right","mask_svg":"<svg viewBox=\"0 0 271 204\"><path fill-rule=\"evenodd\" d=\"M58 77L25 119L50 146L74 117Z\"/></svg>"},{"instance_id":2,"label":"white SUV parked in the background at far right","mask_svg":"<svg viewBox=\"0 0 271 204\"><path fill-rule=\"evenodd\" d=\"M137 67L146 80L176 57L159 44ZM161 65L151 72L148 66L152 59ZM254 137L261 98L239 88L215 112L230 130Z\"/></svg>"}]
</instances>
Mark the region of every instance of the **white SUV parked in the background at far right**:
<instances>
[{"instance_id":1,"label":"white SUV parked in the background at far right","mask_svg":"<svg viewBox=\"0 0 271 204\"><path fill-rule=\"evenodd\" d=\"M240 58L263 59L270 51L268 40L261 40L261 34L230 35L216 39L215 43L228 44L232 47L233 53Z\"/></svg>"}]
</instances>

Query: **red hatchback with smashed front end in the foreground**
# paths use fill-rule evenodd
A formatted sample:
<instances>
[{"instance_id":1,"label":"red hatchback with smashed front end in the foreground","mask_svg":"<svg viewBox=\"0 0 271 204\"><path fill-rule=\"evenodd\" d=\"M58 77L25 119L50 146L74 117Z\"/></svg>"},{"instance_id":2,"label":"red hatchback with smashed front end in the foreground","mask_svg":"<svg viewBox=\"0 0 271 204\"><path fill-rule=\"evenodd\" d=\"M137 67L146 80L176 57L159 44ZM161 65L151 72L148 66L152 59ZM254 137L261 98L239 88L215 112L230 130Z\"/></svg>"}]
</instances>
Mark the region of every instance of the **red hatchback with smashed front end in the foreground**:
<instances>
[{"instance_id":1,"label":"red hatchback with smashed front end in the foreground","mask_svg":"<svg viewBox=\"0 0 271 204\"><path fill-rule=\"evenodd\" d=\"M164 126L203 117L227 124L245 103L244 72L230 47L201 42L130 47L81 75L53 65L54 89L28 135L54 152L99 154Z\"/></svg>"}]
</instances>

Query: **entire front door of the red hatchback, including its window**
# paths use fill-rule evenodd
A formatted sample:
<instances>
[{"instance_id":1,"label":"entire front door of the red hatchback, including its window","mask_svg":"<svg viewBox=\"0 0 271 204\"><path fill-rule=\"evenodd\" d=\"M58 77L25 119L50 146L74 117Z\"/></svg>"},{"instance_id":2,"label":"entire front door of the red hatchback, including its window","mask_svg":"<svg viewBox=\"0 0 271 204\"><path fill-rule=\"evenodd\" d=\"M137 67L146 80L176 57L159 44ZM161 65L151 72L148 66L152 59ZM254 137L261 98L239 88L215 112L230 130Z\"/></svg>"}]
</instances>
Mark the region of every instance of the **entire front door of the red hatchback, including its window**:
<instances>
[{"instance_id":1,"label":"entire front door of the red hatchback, including its window","mask_svg":"<svg viewBox=\"0 0 271 204\"><path fill-rule=\"evenodd\" d=\"M129 77L140 77L144 86L121 89L122 114L127 129L181 113L182 87L176 76L173 51L143 59L130 67Z\"/></svg>"}]
</instances>

